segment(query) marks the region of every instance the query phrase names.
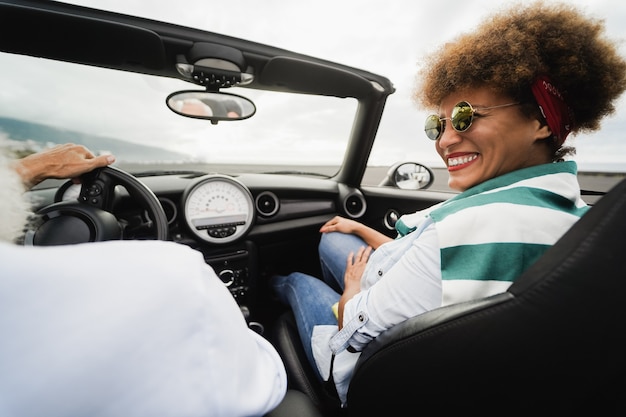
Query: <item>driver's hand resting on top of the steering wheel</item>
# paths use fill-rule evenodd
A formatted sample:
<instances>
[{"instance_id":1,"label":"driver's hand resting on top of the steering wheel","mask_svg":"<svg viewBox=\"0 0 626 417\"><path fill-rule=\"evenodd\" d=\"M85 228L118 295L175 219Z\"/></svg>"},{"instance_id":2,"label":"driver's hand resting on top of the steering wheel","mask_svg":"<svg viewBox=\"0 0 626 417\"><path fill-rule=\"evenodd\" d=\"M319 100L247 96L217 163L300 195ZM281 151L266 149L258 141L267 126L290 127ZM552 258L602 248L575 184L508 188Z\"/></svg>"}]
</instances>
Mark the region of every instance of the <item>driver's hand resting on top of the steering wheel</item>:
<instances>
[{"instance_id":1,"label":"driver's hand resting on top of the steering wheel","mask_svg":"<svg viewBox=\"0 0 626 417\"><path fill-rule=\"evenodd\" d=\"M115 162L113 155L95 156L82 145L66 143L25 156L13 163L26 188L47 178L77 178L95 168Z\"/></svg>"}]
</instances>

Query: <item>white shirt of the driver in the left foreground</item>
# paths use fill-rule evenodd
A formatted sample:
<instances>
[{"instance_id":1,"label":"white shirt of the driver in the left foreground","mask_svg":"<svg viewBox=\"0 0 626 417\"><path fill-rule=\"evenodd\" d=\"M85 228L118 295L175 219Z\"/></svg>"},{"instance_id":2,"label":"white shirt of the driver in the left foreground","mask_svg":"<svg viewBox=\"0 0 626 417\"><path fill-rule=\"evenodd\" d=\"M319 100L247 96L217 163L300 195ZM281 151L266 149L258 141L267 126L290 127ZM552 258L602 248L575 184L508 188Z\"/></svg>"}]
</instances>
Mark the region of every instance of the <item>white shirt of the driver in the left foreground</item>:
<instances>
[{"instance_id":1,"label":"white shirt of the driver in the left foreground","mask_svg":"<svg viewBox=\"0 0 626 417\"><path fill-rule=\"evenodd\" d=\"M0 245L0 263L0 415L263 415L286 392L277 352L186 246Z\"/></svg>"}]
</instances>

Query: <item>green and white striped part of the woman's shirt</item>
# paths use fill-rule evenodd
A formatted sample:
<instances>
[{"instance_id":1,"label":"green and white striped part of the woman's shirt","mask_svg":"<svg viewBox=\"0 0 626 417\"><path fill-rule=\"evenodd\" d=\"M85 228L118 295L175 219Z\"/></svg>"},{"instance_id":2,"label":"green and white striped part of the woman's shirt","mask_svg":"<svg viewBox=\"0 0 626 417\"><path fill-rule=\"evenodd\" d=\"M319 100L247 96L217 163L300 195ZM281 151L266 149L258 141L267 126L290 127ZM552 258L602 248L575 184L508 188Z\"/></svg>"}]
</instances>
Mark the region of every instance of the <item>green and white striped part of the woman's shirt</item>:
<instances>
[{"instance_id":1,"label":"green and white striped part of the woman's shirt","mask_svg":"<svg viewBox=\"0 0 626 417\"><path fill-rule=\"evenodd\" d=\"M589 208L576 172L569 161L502 175L427 213L403 216L398 233L426 216L434 220L444 305L505 291Z\"/></svg>"}]
</instances>

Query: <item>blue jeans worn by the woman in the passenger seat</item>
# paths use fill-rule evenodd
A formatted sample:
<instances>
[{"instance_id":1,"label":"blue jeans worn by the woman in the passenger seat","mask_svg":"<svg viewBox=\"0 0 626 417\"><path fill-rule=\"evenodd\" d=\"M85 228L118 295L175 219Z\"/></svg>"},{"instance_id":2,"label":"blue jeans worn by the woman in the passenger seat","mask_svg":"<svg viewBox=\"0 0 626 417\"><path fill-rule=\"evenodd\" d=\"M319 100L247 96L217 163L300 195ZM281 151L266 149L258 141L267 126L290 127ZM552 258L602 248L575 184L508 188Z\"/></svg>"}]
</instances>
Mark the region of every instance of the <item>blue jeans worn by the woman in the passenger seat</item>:
<instances>
[{"instance_id":1,"label":"blue jeans worn by the woman in the passenger seat","mask_svg":"<svg viewBox=\"0 0 626 417\"><path fill-rule=\"evenodd\" d=\"M319 245L320 263L324 281L301 272L272 277L271 285L278 299L293 311L300 340L307 358L318 378L311 336L317 325L336 325L337 318L331 306L339 301L343 292L343 275L350 251L366 246L360 238L344 233L324 233Z\"/></svg>"}]
</instances>

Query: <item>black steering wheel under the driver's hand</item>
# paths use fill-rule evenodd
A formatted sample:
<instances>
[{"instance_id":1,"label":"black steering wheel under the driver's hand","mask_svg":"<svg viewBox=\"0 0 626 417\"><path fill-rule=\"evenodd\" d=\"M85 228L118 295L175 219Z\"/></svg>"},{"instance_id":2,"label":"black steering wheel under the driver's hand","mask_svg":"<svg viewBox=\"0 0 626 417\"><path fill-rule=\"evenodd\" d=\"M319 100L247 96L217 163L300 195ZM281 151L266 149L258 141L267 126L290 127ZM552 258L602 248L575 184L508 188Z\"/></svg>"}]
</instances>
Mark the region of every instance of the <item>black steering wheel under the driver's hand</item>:
<instances>
[{"instance_id":1,"label":"black steering wheel under the driver's hand","mask_svg":"<svg viewBox=\"0 0 626 417\"><path fill-rule=\"evenodd\" d=\"M48 246L136 238L168 239L163 206L137 178L121 169L104 167L80 179L77 199L61 201L63 192L72 184L68 181L57 191L55 203L37 211L38 224L26 234L25 244ZM119 200L118 185L143 209L133 213L132 219L114 214L115 203ZM138 233L141 237L137 237Z\"/></svg>"}]
</instances>

